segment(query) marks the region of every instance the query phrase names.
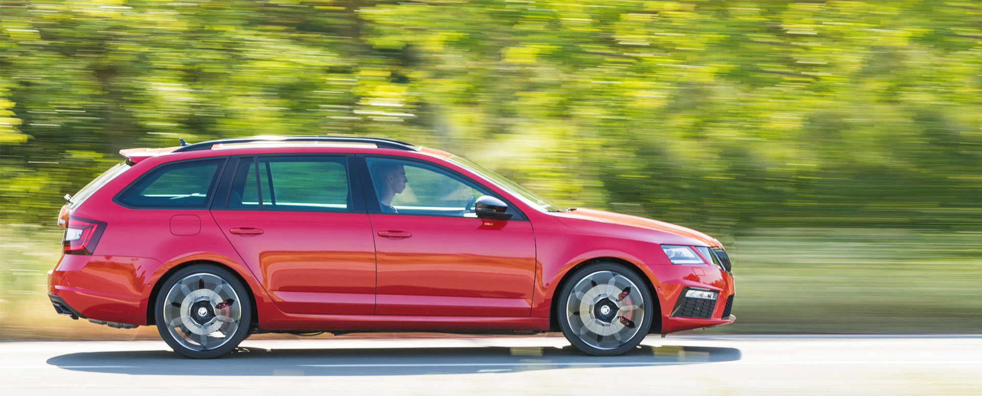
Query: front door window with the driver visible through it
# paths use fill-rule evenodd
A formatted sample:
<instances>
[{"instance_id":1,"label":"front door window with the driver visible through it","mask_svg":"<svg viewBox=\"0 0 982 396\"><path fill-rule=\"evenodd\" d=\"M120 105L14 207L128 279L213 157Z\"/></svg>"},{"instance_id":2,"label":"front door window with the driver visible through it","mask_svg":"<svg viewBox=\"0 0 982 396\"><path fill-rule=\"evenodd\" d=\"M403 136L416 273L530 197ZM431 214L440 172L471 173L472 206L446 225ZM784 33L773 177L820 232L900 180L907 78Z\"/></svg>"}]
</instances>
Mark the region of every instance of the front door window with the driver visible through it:
<instances>
[{"instance_id":1,"label":"front door window with the driver visible through it","mask_svg":"<svg viewBox=\"0 0 982 396\"><path fill-rule=\"evenodd\" d=\"M488 194L443 169L393 158L365 158L382 213L476 217L474 200Z\"/></svg>"}]
</instances>

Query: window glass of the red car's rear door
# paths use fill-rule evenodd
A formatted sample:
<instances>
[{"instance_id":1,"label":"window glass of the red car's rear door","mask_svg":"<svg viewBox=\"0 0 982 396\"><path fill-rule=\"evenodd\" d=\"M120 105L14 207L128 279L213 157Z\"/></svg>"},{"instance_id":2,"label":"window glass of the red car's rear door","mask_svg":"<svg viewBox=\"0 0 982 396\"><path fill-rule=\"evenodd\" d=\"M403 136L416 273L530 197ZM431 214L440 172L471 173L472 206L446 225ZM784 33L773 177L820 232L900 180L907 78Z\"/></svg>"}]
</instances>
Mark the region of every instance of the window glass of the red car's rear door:
<instances>
[{"instance_id":1,"label":"window glass of the red car's rear door","mask_svg":"<svg viewBox=\"0 0 982 396\"><path fill-rule=\"evenodd\" d=\"M349 211L346 160L319 156L243 158L236 167L228 208Z\"/></svg>"}]
</instances>

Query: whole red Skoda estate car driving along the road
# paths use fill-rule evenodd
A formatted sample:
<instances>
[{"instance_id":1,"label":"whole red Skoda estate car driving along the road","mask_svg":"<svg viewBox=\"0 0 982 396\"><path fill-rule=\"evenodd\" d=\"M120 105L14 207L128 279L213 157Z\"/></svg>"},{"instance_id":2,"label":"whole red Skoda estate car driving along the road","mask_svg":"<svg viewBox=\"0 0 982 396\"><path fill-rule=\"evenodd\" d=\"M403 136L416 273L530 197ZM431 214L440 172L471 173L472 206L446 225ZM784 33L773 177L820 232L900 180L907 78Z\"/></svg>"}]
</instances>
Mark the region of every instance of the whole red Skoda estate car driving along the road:
<instances>
[{"instance_id":1,"label":"whole red Skoda estate car driving along the road","mask_svg":"<svg viewBox=\"0 0 982 396\"><path fill-rule=\"evenodd\" d=\"M190 358L259 332L561 330L592 355L730 323L720 243L563 209L403 141L257 137L121 150L59 215L55 311L157 326Z\"/></svg>"}]
</instances>

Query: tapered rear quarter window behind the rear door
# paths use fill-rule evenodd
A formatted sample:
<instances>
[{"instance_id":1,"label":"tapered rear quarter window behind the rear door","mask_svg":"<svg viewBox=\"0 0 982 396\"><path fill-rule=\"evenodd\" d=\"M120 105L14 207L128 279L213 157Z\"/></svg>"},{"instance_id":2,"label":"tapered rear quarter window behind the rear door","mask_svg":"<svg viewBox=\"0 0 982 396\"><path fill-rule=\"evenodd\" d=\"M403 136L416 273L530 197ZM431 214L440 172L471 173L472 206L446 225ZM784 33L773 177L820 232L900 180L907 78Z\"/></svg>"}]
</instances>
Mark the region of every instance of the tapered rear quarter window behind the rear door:
<instances>
[{"instance_id":1,"label":"tapered rear quarter window behind the rear door","mask_svg":"<svg viewBox=\"0 0 982 396\"><path fill-rule=\"evenodd\" d=\"M118 200L131 207L207 208L225 158L161 166L136 181Z\"/></svg>"}]
</instances>

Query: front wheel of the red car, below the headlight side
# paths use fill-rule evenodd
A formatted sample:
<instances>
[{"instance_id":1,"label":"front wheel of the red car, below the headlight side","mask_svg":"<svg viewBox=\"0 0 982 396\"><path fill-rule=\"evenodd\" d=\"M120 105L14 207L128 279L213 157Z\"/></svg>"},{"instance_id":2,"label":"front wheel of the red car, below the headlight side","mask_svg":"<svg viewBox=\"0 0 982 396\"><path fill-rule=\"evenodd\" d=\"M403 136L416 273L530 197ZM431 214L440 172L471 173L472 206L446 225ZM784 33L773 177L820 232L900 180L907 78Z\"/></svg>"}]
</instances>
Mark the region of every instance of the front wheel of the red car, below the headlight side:
<instances>
[{"instance_id":1,"label":"front wheel of the red car, below the headlight side","mask_svg":"<svg viewBox=\"0 0 982 396\"><path fill-rule=\"evenodd\" d=\"M573 273L560 291L554 313L573 347L589 355L614 356L644 340L654 307L648 287L634 271L614 262L597 262Z\"/></svg>"}]
</instances>

